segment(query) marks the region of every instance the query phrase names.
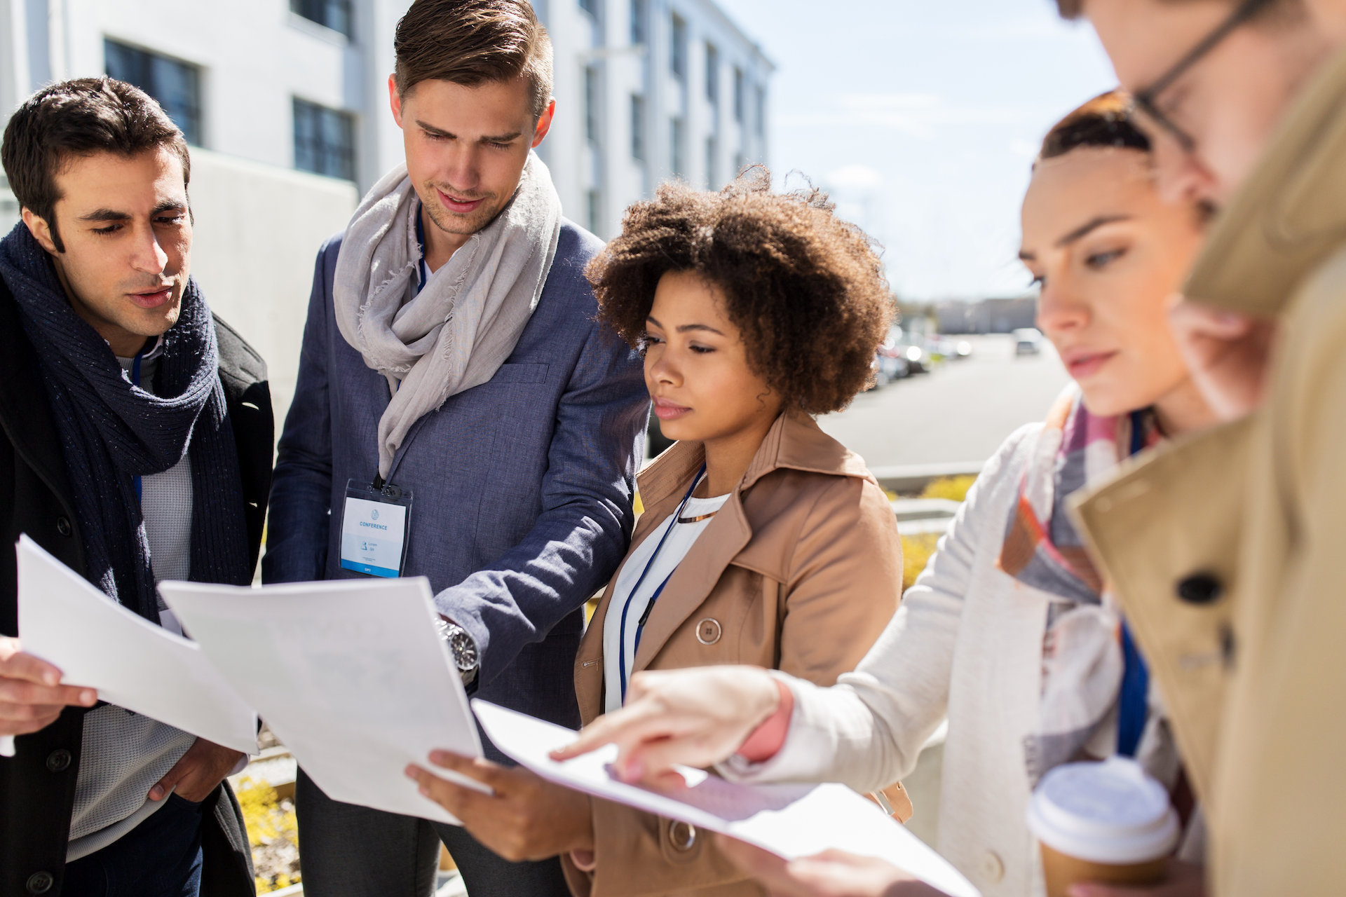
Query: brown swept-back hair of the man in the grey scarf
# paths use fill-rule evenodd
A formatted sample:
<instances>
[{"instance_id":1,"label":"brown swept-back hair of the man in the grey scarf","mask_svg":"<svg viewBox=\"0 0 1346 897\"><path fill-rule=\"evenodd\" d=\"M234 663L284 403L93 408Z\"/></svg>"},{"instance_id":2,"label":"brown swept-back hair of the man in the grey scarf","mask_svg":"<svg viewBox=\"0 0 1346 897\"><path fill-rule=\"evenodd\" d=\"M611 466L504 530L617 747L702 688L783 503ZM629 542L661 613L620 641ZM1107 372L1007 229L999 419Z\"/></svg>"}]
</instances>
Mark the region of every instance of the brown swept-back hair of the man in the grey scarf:
<instances>
[{"instance_id":1,"label":"brown swept-back hair of the man in the grey scarf","mask_svg":"<svg viewBox=\"0 0 1346 897\"><path fill-rule=\"evenodd\" d=\"M393 38L397 93L423 81L464 87L528 78L533 117L552 101L552 39L528 0L416 0Z\"/></svg>"}]
</instances>

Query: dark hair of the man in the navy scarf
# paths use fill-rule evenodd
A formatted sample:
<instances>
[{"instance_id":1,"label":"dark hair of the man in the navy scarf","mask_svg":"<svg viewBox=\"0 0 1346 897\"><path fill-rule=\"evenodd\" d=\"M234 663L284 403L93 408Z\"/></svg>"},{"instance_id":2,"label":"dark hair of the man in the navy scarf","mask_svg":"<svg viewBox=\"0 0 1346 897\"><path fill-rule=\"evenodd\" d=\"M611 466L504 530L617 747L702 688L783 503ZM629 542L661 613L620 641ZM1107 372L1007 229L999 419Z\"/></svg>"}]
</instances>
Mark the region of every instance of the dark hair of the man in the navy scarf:
<instances>
[{"instance_id":1,"label":"dark hair of the man in the navy scarf","mask_svg":"<svg viewBox=\"0 0 1346 897\"><path fill-rule=\"evenodd\" d=\"M47 222L51 242L63 253L55 217L62 165L73 156L109 152L129 159L159 148L178 155L188 183L187 141L149 94L112 78L75 78L43 87L19 106L5 125L0 160L19 204Z\"/></svg>"}]
</instances>

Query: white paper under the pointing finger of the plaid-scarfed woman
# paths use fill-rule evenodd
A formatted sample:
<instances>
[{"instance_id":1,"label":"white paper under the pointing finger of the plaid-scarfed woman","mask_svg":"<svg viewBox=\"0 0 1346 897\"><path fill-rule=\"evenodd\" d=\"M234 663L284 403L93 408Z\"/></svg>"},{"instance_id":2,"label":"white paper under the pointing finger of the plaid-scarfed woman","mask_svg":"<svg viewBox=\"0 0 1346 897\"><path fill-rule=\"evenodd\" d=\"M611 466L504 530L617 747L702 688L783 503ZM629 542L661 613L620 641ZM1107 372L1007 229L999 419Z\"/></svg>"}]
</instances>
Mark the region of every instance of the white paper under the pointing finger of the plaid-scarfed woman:
<instances>
[{"instance_id":1,"label":"white paper under the pointing finger of the plaid-scarfed woman","mask_svg":"<svg viewBox=\"0 0 1346 897\"><path fill-rule=\"evenodd\" d=\"M845 785L740 785L684 769L686 789L653 791L608 773L616 745L557 763L548 754L575 741L569 729L486 701L472 701L472 710L497 748L568 788L719 831L786 859L829 847L880 857L953 897L980 897L949 861Z\"/></svg>"}]
</instances>

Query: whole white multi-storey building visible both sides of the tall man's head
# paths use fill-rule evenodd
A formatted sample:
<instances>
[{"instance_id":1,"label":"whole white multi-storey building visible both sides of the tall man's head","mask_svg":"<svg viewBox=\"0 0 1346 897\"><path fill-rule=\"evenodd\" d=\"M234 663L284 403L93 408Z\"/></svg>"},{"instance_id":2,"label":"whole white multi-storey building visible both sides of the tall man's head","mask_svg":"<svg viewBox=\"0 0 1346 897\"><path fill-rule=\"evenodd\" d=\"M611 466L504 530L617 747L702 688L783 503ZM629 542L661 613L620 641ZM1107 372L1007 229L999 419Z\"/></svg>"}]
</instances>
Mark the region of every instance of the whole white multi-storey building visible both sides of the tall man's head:
<instances>
[{"instance_id":1,"label":"whole white multi-storey building visible both sides of the tall man's head","mask_svg":"<svg viewBox=\"0 0 1346 897\"><path fill-rule=\"evenodd\" d=\"M367 190L401 160L388 110L409 0L0 0L0 109L110 74L164 105L194 147ZM541 147L567 217L611 237L682 178L717 188L766 161L773 65L711 0L537 0L556 48ZM12 221L15 210L0 208Z\"/></svg>"}]
</instances>

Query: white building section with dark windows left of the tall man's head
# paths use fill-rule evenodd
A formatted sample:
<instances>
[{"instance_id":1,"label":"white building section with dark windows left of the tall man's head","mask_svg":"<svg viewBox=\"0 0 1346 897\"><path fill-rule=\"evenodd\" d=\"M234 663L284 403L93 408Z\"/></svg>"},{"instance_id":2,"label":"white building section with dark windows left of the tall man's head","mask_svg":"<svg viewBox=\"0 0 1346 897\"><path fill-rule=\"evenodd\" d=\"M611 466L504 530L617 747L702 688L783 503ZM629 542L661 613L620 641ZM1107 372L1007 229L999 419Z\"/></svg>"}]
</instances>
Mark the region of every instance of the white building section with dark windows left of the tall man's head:
<instances>
[{"instance_id":1,"label":"white building section with dark windows left of the tall man's head","mask_svg":"<svg viewBox=\"0 0 1346 897\"><path fill-rule=\"evenodd\" d=\"M398 159L388 114L408 0L0 0L0 108L110 74L194 147L367 187Z\"/></svg>"}]
</instances>

